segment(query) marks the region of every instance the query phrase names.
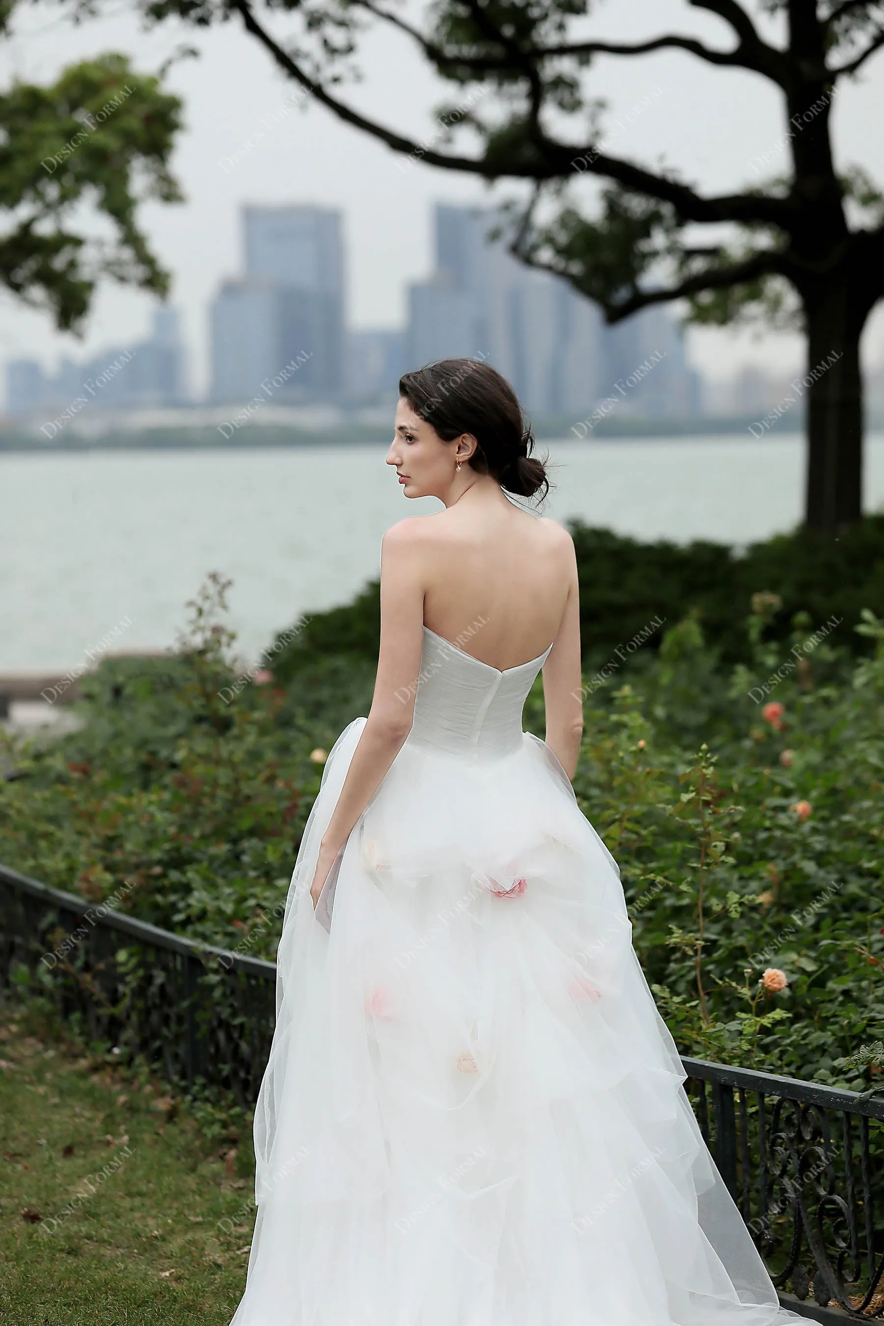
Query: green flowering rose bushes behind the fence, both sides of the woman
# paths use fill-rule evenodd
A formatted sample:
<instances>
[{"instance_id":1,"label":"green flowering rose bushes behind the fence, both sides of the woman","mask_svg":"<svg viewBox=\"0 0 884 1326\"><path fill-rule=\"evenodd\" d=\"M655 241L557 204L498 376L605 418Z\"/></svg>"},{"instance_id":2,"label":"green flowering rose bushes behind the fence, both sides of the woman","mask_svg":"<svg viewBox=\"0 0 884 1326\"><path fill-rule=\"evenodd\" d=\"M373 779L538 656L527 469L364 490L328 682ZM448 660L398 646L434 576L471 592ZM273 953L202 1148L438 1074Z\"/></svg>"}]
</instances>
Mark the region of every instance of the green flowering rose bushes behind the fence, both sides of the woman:
<instances>
[{"instance_id":1,"label":"green flowering rose bushes behind the fence, both sides of the woman","mask_svg":"<svg viewBox=\"0 0 884 1326\"><path fill-rule=\"evenodd\" d=\"M272 957L323 753L368 711L376 605L363 594L350 615L314 619L272 680L240 684L225 590L215 581L191 605L176 655L102 664L80 732L9 752L0 859ZM692 603L656 652L648 642L584 674L575 793L620 863L681 1050L871 1089L884 1066L884 622L864 609L812 631L757 583L730 610L737 662L709 646ZM338 652L321 658L322 639ZM539 678L525 725L543 735Z\"/></svg>"}]
</instances>

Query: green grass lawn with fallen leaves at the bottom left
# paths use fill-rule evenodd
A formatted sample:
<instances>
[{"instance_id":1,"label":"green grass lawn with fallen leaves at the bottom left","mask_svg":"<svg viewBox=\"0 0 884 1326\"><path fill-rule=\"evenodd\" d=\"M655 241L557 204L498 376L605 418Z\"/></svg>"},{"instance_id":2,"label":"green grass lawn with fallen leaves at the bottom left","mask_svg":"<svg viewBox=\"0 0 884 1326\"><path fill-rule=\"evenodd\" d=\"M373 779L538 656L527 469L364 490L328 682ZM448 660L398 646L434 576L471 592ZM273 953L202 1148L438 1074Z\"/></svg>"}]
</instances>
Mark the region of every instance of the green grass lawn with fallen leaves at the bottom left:
<instances>
[{"instance_id":1,"label":"green grass lawn with fallen leaves at the bottom left","mask_svg":"<svg viewBox=\"0 0 884 1326\"><path fill-rule=\"evenodd\" d=\"M228 1326L254 1224L243 1136L0 1004L0 1323Z\"/></svg>"}]
</instances>

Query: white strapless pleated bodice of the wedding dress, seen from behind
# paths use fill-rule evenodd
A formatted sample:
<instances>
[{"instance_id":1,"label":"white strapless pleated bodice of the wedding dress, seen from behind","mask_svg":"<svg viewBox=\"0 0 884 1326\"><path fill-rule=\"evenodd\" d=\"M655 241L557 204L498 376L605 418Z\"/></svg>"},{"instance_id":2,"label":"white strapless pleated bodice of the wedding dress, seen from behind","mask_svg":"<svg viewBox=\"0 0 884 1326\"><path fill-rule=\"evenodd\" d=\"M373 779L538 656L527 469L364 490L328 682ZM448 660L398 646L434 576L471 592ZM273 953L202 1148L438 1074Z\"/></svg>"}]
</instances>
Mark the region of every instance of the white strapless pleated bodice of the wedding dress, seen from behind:
<instances>
[{"instance_id":1,"label":"white strapless pleated bodice of the wedding dress, seen from behind","mask_svg":"<svg viewBox=\"0 0 884 1326\"><path fill-rule=\"evenodd\" d=\"M518 749L525 699L551 648L501 671L424 626L415 719L407 741L473 761Z\"/></svg>"}]
</instances>

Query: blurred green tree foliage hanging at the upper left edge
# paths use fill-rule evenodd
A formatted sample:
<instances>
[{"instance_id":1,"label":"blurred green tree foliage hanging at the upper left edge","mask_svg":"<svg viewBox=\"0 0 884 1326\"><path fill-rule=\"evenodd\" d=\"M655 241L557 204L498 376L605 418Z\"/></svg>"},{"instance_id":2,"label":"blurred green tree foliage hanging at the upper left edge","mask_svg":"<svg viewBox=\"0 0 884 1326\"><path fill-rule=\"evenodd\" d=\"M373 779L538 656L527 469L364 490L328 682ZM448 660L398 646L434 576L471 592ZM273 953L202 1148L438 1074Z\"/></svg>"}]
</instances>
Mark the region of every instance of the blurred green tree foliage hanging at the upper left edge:
<instances>
[{"instance_id":1,"label":"blurred green tree foliage hanging at the upper left edge","mask_svg":"<svg viewBox=\"0 0 884 1326\"><path fill-rule=\"evenodd\" d=\"M0 0L0 32L11 12ZM137 74L121 54L70 65L45 88L16 82L0 93L0 282L49 309L61 330L82 326L103 276L167 293L137 208L183 199L168 168L180 111L158 77ZM82 233L89 202L111 223L110 237Z\"/></svg>"}]
</instances>

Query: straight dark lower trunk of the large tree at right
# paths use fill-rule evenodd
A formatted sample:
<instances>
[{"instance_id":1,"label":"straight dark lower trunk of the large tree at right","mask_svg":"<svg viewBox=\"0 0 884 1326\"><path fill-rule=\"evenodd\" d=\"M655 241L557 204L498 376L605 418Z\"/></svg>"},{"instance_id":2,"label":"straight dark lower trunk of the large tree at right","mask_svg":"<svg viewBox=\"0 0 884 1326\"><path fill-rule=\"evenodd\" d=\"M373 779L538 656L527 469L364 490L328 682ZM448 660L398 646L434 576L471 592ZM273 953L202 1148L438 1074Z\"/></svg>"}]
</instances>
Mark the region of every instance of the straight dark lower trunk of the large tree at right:
<instances>
[{"instance_id":1,"label":"straight dark lower trunk of the large tree at right","mask_svg":"<svg viewBox=\"0 0 884 1326\"><path fill-rule=\"evenodd\" d=\"M804 522L834 533L863 514L863 378L865 312L851 308L848 277L835 273L804 297L807 373L793 390L807 400Z\"/></svg>"}]
</instances>

